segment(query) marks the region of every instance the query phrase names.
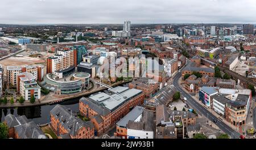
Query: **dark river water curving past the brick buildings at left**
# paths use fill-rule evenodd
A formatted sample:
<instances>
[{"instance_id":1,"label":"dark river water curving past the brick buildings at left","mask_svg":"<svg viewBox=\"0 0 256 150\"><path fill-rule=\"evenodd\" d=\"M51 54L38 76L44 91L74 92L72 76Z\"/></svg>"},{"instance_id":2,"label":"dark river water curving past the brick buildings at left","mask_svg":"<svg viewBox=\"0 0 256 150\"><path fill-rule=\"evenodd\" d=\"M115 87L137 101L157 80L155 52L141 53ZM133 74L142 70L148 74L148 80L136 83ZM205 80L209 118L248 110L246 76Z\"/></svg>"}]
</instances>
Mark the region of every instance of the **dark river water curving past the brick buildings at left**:
<instances>
[{"instance_id":1,"label":"dark river water curving past the brick buildings at left","mask_svg":"<svg viewBox=\"0 0 256 150\"><path fill-rule=\"evenodd\" d=\"M123 84L119 86L128 86L128 84ZM89 95L88 95L89 96ZM58 103L67 108L70 108L73 112L79 112L79 99L72 98L66 101ZM16 109L0 109L1 122L5 119L8 114L13 114L15 116L26 115L28 120L33 120L36 124L44 124L49 122L49 112L55 107L54 105L43 105L34 107L19 107Z\"/></svg>"}]
</instances>

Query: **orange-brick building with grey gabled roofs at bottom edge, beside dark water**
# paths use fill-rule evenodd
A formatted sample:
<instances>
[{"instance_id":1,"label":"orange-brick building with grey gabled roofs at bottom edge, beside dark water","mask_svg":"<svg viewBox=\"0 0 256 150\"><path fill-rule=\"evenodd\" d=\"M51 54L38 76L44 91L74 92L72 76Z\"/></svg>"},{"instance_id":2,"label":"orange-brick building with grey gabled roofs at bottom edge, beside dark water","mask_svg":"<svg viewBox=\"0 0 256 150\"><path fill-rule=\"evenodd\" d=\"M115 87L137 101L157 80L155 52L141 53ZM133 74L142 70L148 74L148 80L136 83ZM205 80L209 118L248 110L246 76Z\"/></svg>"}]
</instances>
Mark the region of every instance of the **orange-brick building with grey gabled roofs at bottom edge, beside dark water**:
<instances>
[{"instance_id":1,"label":"orange-brick building with grey gabled roofs at bottom edge, beside dark water","mask_svg":"<svg viewBox=\"0 0 256 150\"><path fill-rule=\"evenodd\" d=\"M84 122L72 114L71 109L56 105L50 111L51 128L62 139L93 139L94 127L92 122Z\"/></svg>"}]
</instances>

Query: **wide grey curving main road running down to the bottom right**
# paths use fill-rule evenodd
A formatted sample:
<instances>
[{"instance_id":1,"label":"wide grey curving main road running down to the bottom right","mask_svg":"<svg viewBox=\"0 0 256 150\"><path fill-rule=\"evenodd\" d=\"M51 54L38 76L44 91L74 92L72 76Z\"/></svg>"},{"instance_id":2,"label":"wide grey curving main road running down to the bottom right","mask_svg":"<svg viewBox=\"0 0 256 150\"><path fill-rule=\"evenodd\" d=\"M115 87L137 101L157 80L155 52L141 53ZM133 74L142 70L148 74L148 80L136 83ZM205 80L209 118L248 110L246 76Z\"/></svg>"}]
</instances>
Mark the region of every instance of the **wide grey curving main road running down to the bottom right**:
<instances>
[{"instance_id":1,"label":"wide grey curving main road running down to the bottom right","mask_svg":"<svg viewBox=\"0 0 256 150\"><path fill-rule=\"evenodd\" d=\"M199 101L196 101L195 99L193 99L191 97L191 95L187 93L187 91L184 91L180 87L180 85L179 85L179 78L180 77L181 77L181 71L178 72L176 74L176 76L174 77L173 85L175 86L176 90L181 92L181 95L183 95L183 97L187 98L187 103L189 104L189 106L191 106L193 109L195 109L198 114L204 115L209 120L216 119L217 120L216 125L220 128L220 130L222 130L223 132L228 134L232 139L240 138L240 135L241 135L240 133L238 133L237 131L233 130L233 128L229 127L224 122L222 122L222 120L218 119L216 116L211 114L209 110L207 110L205 107L203 107L202 105L199 104Z\"/></svg>"}]
</instances>

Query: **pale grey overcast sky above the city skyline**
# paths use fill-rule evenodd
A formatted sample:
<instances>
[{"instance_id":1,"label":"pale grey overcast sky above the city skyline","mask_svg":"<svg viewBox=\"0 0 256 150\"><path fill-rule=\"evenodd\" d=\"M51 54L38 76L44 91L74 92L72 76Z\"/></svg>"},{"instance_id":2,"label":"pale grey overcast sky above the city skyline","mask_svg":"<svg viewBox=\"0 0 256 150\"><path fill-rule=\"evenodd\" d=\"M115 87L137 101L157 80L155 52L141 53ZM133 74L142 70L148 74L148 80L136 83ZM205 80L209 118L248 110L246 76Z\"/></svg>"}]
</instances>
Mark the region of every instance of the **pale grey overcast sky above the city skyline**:
<instances>
[{"instance_id":1,"label":"pale grey overcast sky above the city skyline","mask_svg":"<svg viewBox=\"0 0 256 150\"><path fill-rule=\"evenodd\" d=\"M0 0L0 24L256 23L256 0Z\"/></svg>"}]
</instances>

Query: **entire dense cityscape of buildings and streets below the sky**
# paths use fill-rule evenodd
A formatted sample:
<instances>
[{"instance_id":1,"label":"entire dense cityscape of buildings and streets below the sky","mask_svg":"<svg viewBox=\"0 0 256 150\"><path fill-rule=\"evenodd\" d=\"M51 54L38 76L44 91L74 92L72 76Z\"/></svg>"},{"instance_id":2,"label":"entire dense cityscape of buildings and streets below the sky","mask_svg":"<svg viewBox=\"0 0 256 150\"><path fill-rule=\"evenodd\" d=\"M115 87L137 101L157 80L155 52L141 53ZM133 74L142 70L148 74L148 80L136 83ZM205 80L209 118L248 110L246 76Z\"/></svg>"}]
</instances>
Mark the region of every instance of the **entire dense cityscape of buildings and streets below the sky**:
<instances>
[{"instance_id":1,"label":"entire dense cityscape of buildings and streets below the sky","mask_svg":"<svg viewBox=\"0 0 256 150\"><path fill-rule=\"evenodd\" d=\"M130 20L0 24L1 136L253 139L255 31Z\"/></svg>"}]
</instances>

